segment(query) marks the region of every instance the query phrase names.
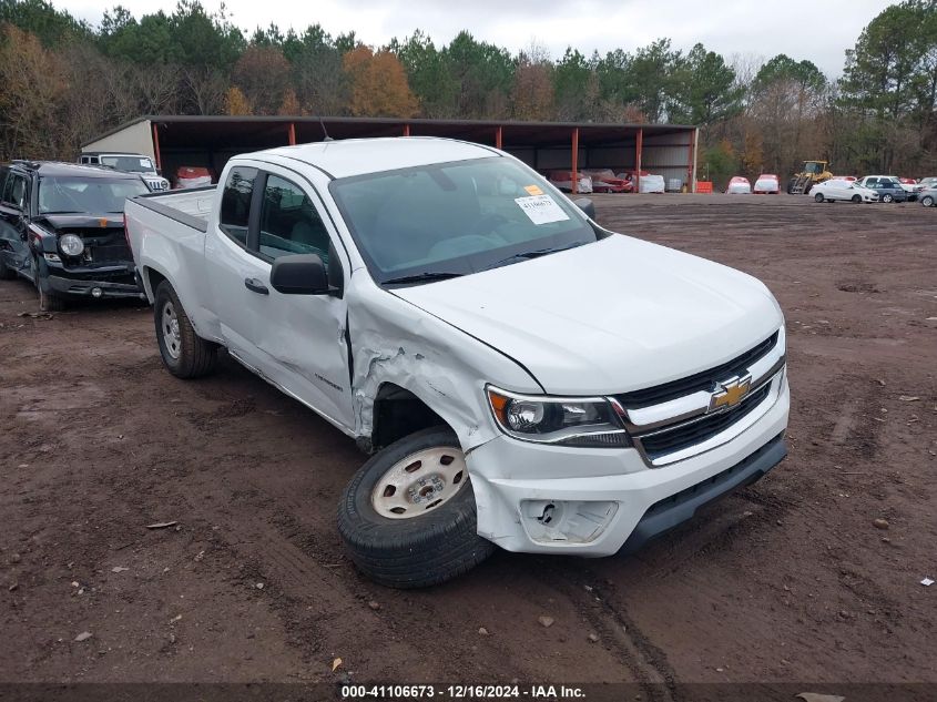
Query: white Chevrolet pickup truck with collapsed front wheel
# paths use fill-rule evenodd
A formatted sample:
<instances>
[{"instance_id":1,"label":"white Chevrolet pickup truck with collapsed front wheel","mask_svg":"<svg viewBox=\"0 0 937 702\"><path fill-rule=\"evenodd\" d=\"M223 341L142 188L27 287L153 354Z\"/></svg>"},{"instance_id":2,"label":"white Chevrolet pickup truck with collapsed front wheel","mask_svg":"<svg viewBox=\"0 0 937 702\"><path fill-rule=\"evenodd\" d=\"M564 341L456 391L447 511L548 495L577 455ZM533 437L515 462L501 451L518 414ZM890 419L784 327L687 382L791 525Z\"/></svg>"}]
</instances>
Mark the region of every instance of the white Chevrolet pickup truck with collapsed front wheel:
<instances>
[{"instance_id":1,"label":"white Chevrolet pickup truck with collapsed front wheel","mask_svg":"<svg viewBox=\"0 0 937 702\"><path fill-rule=\"evenodd\" d=\"M767 288L605 231L501 151L246 154L217 187L129 201L126 232L172 374L223 346L373 454L338 529L383 584L495 546L630 552L786 454Z\"/></svg>"}]
</instances>

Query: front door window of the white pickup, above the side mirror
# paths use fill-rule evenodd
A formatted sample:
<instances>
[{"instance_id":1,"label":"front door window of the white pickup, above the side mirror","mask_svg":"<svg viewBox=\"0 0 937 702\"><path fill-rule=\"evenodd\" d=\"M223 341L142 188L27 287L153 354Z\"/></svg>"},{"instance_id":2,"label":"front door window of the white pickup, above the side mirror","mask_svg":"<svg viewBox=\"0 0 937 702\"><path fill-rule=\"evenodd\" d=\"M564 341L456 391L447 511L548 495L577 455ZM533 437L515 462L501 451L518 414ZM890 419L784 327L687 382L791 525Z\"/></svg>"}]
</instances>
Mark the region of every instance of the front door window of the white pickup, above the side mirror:
<instances>
[{"instance_id":1,"label":"front door window of the white pickup, above the side mirror","mask_svg":"<svg viewBox=\"0 0 937 702\"><path fill-rule=\"evenodd\" d=\"M261 207L259 253L267 258L318 254L328 265L328 232L302 187L268 175Z\"/></svg>"}]
</instances>

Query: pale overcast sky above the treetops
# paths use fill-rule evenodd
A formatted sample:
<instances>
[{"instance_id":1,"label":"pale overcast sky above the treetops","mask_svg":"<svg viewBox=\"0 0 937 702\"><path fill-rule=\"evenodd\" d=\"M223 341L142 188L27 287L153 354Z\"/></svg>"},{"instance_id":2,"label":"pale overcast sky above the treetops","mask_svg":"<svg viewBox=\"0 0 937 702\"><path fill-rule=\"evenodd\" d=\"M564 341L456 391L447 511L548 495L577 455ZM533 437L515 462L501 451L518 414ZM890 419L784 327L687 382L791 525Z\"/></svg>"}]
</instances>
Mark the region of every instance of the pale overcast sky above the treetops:
<instances>
[{"instance_id":1,"label":"pale overcast sky above the treetops","mask_svg":"<svg viewBox=\"0 0 937 702\"><path fill-rule=\"evenodd\" d=\"M660 37L676 49L703 42L726 61L734 55L770 59L786 53L809 59L829 78L843 71L844 52L855 45L863 28L897 0L815 0L782 3L775 0L312 0L259 2L227 0L234 23L248 33L275 22L297 31L318 22L333 35L355 30L359 40L379 47L391 37L415 29L429 34L437 47L467 29L516 53L536 42L559 59L568 45L589 55L621 48L633 51ZM118 2L115 1L114 4ZM96 26L102 4L89 0L53 0L53 4ZM163 9L175 0L122 0L135 17ZM210 11L220 0L203 0Z\"/></svg>"}]
</instances>

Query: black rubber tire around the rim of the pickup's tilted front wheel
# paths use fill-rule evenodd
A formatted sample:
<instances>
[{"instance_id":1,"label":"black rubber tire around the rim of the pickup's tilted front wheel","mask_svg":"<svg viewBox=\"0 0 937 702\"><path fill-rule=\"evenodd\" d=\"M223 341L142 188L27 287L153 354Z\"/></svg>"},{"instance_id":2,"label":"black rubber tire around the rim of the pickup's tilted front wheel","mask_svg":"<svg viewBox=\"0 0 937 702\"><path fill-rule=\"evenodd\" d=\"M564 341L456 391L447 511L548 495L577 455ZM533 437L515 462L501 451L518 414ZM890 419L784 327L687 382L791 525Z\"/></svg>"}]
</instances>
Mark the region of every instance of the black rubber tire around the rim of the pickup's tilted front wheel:
<instances>
[{"instance_id":1,"label":"black rubber tire around the rim of the pickup's tilted front wheel","mask_svg":"<svg viewBox=\"0 0 937 702\"><path fill-rule=\"evenodd\" d=\"M495 550L477 533L475 494L467 471L455 495L416 517L390 519L371 503L371 492L391 467L434 448L451 448L461 458L451 429L424 429L373 456L342 495L338 532L358 570L379 584L401 589L439 584L468 572Z\"/></svg>"}]
</instances>

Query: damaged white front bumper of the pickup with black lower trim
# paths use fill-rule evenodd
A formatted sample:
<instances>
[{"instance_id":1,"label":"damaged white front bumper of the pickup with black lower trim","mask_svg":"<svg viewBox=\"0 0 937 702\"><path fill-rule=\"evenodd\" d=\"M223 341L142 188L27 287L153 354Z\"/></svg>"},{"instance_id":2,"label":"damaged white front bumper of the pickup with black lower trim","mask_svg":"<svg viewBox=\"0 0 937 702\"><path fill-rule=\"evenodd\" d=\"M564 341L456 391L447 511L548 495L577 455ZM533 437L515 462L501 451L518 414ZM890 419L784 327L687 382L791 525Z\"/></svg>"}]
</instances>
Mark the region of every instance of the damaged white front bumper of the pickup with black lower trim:
<instances>
[{"instance_id":1,"label":"damaged white front bumper of the pickup with black lower trim","mask_svg":"<svg viewBox=\"0 0 937 702\"><path fill-rule=\"evenodd\" d=\"M765 404L758 419L731 440L660 468L650 468L634 448L492 439L466 458L478 533L509 551L633 551L703 505L760 479L784 458L786 374Z\"/></svg>"}]
</instances>

